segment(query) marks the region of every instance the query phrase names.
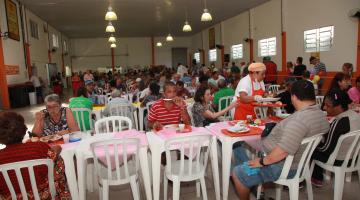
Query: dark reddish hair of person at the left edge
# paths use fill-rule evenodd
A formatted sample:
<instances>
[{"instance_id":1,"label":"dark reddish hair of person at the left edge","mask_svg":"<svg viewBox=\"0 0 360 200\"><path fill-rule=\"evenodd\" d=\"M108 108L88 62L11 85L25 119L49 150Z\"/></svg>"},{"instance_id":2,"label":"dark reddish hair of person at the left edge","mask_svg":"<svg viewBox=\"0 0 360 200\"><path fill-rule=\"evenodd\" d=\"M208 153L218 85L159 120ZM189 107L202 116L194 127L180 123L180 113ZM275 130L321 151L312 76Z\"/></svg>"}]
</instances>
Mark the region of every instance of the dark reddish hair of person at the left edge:
<instances>
[{"instance_id":1,"label":"dark reddish hair of person at the left edge","mask_svg":"<svg viewBox=\"0 0 360 200\"><path fill-rule=\"evenodd\" d=\"M16 112L0 112L0 143L21 143L26 133L24 117Z\"/></svg>"}]
</instances>

